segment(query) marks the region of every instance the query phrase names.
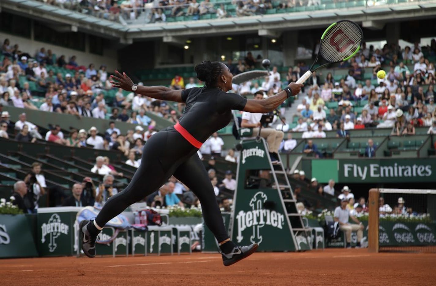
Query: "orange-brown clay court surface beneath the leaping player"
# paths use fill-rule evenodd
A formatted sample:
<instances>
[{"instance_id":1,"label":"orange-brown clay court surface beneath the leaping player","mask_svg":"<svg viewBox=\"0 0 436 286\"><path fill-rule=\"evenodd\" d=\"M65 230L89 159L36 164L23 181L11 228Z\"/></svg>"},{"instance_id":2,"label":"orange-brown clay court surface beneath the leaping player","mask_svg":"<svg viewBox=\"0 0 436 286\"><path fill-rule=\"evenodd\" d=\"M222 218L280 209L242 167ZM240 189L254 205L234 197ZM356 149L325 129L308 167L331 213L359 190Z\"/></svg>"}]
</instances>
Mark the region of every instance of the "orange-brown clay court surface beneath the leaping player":
<instances>
[{"instance_id":1,"label":"orange-brown clay court surface beneath the leaping player","mask_svg":"<svg viewBox=\"0 0 436 286\"><path fill-rule=\"evenodd\" d=\"M435 285L436 255L367 249L255 253L233 266L218 254L3 259L2 285Z\"/></svg>"}]
</instances>

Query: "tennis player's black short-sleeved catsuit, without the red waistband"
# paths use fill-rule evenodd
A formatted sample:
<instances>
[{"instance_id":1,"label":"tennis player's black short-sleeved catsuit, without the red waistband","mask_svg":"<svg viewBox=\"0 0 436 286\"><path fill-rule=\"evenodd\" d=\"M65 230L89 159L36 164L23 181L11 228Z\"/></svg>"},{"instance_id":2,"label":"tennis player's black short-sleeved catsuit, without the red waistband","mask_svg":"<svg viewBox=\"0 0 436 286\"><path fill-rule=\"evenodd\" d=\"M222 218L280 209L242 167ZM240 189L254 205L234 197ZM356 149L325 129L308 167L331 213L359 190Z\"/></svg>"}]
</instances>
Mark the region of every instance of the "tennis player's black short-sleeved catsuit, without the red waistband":
<instances>
[{"instance_id":1,"label":"tennis player's black short-sleeved catsuit, without the red waistband","mask_svg":"<svg viewBox=\"0 0 436 286\"><path fill-rule=\"evenodd\" d=\"M179 123L200 142L227 126L232 109L242 110L247 102L242 96L225 93L218 87L183 90L182 100L186 107ZM218 242L228 239L214 189L197 151L198 148L174 126L154 134L144 146L141 164L129 185L105 203L95 222L104 226L129 205L158 190L174 175L200 200L204 222Z\"/></svg>"}]
</instances>

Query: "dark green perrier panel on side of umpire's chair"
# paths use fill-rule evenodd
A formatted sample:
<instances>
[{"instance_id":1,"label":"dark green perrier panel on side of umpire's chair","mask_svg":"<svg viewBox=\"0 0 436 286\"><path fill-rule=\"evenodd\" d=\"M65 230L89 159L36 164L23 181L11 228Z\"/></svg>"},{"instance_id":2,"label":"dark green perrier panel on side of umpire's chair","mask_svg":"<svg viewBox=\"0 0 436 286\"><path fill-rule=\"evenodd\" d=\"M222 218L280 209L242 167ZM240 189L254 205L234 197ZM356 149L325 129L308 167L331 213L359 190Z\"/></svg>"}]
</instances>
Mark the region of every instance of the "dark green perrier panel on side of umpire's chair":
<instances>
[{"instance_id":1,"label":"dark green perrier panel on side of umpire's chair","mask_svg":"<svg viewBox=\"0 0 436 286\"><path fill-rule=\"evenodd\" d=\"M264 251L295 251L296 244L279 191L245 186L250 170L271 170L264 141L245 140L242 146L232 214L232 240L238 245L258 243L259 250Z\"/></svg>"}]
</instances>

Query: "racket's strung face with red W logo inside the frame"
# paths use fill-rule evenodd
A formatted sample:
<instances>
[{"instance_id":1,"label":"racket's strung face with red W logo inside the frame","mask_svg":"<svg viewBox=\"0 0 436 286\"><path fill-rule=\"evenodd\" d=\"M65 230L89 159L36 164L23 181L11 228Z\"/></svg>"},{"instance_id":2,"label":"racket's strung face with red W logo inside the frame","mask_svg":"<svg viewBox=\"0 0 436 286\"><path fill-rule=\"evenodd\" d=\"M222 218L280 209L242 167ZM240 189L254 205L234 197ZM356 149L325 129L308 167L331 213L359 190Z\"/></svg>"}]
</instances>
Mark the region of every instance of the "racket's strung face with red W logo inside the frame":
<instances>
[{"instance_id":1,"label":"racket's strung face with red W logo inside the frame","mask_svg":"<svg viewBox=\"0 0 436 286\"><path fill-rule=\"evenodd\" d=\"M324 35L321 55L329 62L342 61L360 47L362 38L362 32L357 25L348 21L339 22Z\"/></svg>"}]
</instances>

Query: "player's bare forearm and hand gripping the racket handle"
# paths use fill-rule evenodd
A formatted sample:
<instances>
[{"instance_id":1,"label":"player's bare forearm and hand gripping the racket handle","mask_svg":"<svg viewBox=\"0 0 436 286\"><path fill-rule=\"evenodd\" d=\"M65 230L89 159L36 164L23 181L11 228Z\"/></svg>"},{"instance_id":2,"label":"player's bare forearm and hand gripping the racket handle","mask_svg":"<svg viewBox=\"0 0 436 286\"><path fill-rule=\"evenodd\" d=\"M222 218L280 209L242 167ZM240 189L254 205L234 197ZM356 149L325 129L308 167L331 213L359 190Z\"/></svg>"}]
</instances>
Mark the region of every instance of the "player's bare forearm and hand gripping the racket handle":
<instances>
[{"instance_id":1,"label":"player's bare forearm and hand gripping the racket handle","mask_svg":"<svg viewBox=\"0 0 436 286\"><path fill-rule=\"evenodd\" d=\"M292 95L295 96L298 93L300 93L301 87L303 87L303 84L300 83L290 83L289 84L290 90L292 91ZM252 113L267 113L275 110L277 107L279 107L280 104L283 103L283 101L287 98L287 93L285 90L282 90L281 92L277 93L274 96L269 96L266 99L263 100L255 100L255 99L249 99L247 100L247 103L245 104L244 111L252 112Z\"/></svg>"}]
</instances>

